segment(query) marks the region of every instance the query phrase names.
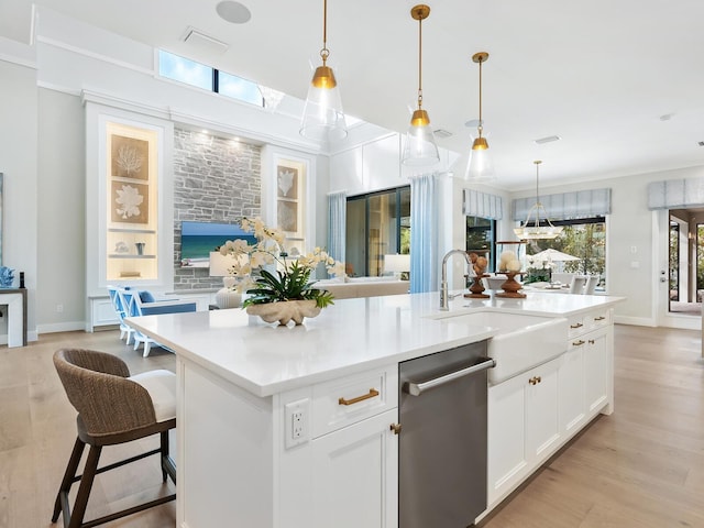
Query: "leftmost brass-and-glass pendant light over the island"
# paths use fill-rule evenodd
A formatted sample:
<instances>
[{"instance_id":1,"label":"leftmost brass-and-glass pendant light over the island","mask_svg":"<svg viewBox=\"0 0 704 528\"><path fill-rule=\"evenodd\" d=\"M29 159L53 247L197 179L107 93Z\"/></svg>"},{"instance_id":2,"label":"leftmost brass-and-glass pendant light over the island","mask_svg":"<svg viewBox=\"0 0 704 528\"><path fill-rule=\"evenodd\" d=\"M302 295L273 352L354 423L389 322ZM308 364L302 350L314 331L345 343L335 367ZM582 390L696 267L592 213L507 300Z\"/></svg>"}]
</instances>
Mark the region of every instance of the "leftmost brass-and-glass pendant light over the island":
<instances>
[{"instance_id":1,"label":"leftmost brass-and-glass pendant light over the island","mask_svg":"<svg viewBox=\"0 0 704 528\"><path fill-rule=\"evenodd\" d=\"M342 99L332 68L327 65L328 50L328 0L322 2L322 66L316 68L300 122L300 135L310 140L327 142L343 140L348 127L342 111Z\"/></svg>"}]
</instances>

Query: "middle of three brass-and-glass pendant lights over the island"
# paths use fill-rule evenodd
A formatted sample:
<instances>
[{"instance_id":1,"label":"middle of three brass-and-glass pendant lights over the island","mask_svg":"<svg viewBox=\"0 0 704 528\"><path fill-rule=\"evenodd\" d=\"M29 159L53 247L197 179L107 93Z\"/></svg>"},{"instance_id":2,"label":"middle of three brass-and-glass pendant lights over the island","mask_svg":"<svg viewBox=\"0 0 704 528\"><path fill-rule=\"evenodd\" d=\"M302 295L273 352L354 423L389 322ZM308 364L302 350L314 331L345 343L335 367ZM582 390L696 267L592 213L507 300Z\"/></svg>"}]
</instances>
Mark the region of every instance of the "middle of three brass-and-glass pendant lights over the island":
<instances>
[{"instance_id":1,"label":"middle of three brass-and-glass pendant lights over the island","mask_svg":"<svg viewBox=\"0 0 704 528\"><path fill-rule=\"evenodd\" d=\"M433 165L440 161L430 118L422 109L422 21L429 14L430 8L425 4L418 4L410 10L413 19L418 21L418 109L410 118L402 163L416 167Z\"/></svg>"}]
</instances>

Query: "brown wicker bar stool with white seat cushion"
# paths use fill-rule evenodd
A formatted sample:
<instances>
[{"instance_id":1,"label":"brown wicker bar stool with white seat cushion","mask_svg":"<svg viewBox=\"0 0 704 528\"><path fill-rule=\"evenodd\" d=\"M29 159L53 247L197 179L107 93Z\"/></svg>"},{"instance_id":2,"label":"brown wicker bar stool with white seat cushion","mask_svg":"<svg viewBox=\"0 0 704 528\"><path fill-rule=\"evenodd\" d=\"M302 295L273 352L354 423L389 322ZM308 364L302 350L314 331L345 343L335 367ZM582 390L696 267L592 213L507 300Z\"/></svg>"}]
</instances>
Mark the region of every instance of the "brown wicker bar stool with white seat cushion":
<instances>
[{"instance_id":1,"label":"brown wicker bar stool with white seat cushion","mask_svg":"<svg viewBox=\"0 0 704 528\"><path fill-rule=\"evenodd\" d=\"M130 376L119 358L94 350L62 349L54 353L54 366L69 402L78 411L78 437L62 481L52 522L63 514L65 528L88 528L165 504L176 494L163 496L97 519L84 522L86 506L97 474L161 455L162 479L176 483L176 466L168 453L168 431L176 427L176 376L156 370ZM160 448L98 468L102 448L160 435ZM76 475L86 444L90 446L82 475ZM80 482L72 507L68 493Z\"/></svg>"}]
</instances>

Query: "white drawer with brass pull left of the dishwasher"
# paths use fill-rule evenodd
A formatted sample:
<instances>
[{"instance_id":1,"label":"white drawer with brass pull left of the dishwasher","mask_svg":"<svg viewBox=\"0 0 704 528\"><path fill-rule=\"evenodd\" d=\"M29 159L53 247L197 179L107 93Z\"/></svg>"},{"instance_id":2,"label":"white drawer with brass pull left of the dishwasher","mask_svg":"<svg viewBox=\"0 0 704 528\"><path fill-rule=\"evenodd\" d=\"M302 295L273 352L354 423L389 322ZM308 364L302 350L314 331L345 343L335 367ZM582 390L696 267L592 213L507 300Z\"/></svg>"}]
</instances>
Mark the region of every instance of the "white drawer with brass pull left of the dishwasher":
<instances>
[{"instance_id":1,"label":"white drawer with brass pull left of the dishwasher","mask_svg":"<svg viewBox=\"0 0 704 528\"><path fill-rule=\"evenodd\" d=\"M312 438L397 406L397 365L314 385Z\"/></svg>"}]
</instances>

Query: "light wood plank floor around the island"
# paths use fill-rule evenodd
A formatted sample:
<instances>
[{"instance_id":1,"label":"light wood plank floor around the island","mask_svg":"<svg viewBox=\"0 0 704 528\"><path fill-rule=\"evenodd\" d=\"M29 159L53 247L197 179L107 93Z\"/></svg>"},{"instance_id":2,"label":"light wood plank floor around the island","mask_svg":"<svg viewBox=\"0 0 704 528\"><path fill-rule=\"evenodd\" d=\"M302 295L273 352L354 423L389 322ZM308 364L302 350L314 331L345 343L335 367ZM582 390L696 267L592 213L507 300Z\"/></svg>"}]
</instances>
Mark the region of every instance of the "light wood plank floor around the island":
<instances>
[{"instance_id":1,"label":"light wood plank floor around the island","mask_svg":"<svg viewBox=\"0 0 704 528\"><path fill-rule=\"evenodd\" d=\"M63 346L114 353L133 373L175 365L162 349L142 359L117 331L43 334L25 348L0 348L0 528L52 526L76 431L75 411L52 364ZM616 326L615 349L614 415L593 422L483 528L704 527L700 332ZM132 454L132 447L120 449L106 450L106 461ZM156 458L106 473L94 485L87 518L166 487ZM173 528L175 517L169 503L105 526Z\"/></svg>"}]
</instances>

